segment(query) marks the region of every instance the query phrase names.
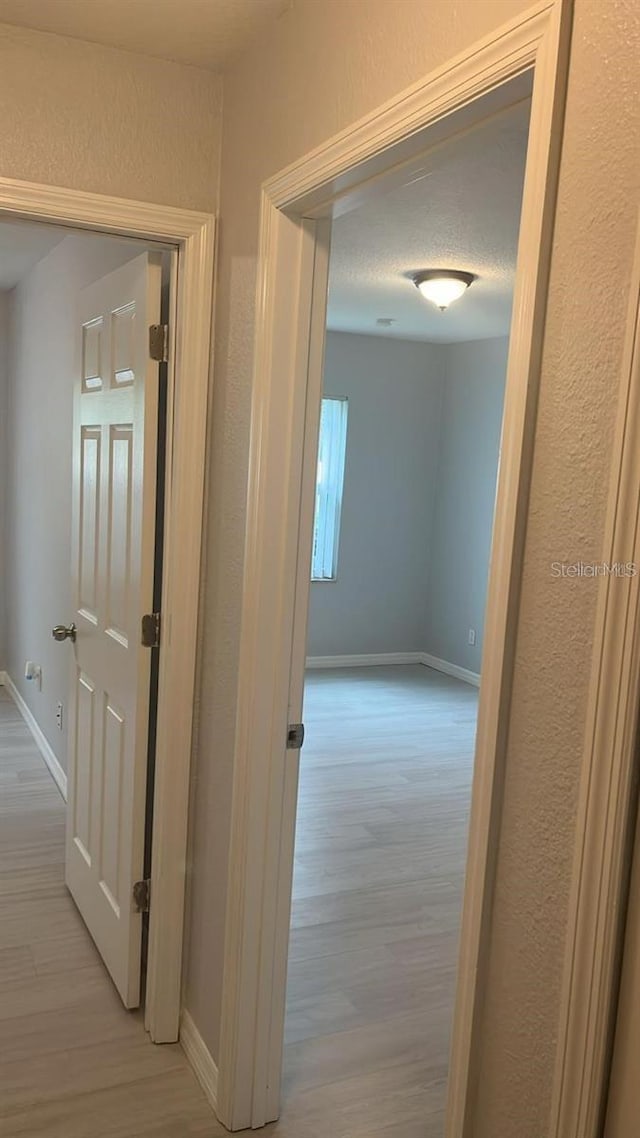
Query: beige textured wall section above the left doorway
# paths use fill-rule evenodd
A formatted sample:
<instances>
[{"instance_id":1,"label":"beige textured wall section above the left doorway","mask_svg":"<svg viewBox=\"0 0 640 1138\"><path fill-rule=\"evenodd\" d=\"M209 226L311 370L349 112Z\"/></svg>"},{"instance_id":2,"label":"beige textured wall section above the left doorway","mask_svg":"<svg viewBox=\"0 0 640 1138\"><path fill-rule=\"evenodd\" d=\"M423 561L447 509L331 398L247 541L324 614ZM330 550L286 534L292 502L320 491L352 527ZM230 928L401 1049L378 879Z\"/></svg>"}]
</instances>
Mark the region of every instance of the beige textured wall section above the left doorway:
<instances>
[{"instance_id":1,"label":"beige textured wall section above the left doorway","mask_svg":"<svg viewBox=\"0 0 640 1138\"><path fill-rule=\"evenodd\" d=\"M221 80L0 24L0 176L218 204Z\"/></svg>"}]
</instances>

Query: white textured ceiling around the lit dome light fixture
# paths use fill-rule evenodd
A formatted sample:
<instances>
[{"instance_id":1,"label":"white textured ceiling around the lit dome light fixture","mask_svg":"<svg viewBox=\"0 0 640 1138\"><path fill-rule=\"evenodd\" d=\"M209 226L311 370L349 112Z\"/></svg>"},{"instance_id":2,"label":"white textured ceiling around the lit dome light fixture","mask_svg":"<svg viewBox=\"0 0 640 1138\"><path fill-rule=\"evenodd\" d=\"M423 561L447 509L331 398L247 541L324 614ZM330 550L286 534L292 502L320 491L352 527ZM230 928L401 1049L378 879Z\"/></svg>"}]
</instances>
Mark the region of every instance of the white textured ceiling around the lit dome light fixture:
<instances>
[{"instance_id":1,"label":"white textured ceiling around the lit dome light fixture","mask_svg":"<svg viewBox=\"0 0 640 1138\"><path fill-rule=\"evenodd\" d=\"M525 102L495 116L334 222L330 329L443 344L508 335L528 115ZM409 279L430 267L478 279L442 313Z\"/></svg>"}]
</instances>

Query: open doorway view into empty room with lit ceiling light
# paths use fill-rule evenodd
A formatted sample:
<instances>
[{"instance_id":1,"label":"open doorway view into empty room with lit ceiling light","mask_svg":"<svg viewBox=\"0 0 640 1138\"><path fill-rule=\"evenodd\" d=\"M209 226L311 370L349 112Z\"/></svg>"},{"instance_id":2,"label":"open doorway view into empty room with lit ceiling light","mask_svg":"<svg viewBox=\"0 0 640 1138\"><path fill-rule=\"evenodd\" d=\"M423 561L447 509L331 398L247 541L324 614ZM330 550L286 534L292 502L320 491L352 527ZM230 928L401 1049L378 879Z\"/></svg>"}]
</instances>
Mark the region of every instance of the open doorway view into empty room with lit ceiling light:
<instances>
[{"instance_id":1,"label":"open doorway view into empty room with lit ceiling light","mask_svg":"<svg viewBox=\"0 0 640 1138\"><path fill-rule=\"evenodd\" d=\"M444 1128L530 113L331 226L282 1112L338 1133ZM444 311L432 266L473 274Z\"/></svg>"}]
</instances>

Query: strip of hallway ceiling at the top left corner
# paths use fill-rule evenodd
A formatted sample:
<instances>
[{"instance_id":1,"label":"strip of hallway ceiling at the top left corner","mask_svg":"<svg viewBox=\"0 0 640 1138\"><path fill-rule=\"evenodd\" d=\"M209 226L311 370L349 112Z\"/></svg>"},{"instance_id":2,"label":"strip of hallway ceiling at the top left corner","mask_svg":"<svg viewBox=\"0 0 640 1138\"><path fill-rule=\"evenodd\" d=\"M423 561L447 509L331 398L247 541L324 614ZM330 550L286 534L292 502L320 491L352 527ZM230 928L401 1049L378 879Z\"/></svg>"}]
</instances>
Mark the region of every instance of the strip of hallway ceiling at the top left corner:
<instances>
[{"instance_id":1,"label":"strip of hallway ceiling at the top left corner","mask_svg":"<svg viewBox=\"0 0 640 1138\"><path fill-rule=\"evenodd\" d=\"M219 71L292 0L0 0L0 23Z\"/></svg>"}]
</instances>

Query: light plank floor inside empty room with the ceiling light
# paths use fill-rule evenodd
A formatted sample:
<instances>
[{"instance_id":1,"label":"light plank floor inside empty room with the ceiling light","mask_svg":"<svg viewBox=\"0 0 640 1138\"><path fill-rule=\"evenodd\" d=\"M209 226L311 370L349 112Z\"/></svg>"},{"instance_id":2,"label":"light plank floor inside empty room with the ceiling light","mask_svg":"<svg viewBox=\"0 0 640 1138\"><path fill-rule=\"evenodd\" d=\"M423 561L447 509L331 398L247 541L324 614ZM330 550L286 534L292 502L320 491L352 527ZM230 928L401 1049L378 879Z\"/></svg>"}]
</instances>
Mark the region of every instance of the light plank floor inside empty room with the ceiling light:
<instances>
[{"instance_id":1,"label":"light plank floor inside empty room with the ceiling light","mask_svg":"<svg viewBox=\"0 0 640 1138\"><path fill-rule=\"evenodd\" d=\"M278 1135L442 1138L476 710L421 665L307 675Z\"/></svg>"}]
</instances>

